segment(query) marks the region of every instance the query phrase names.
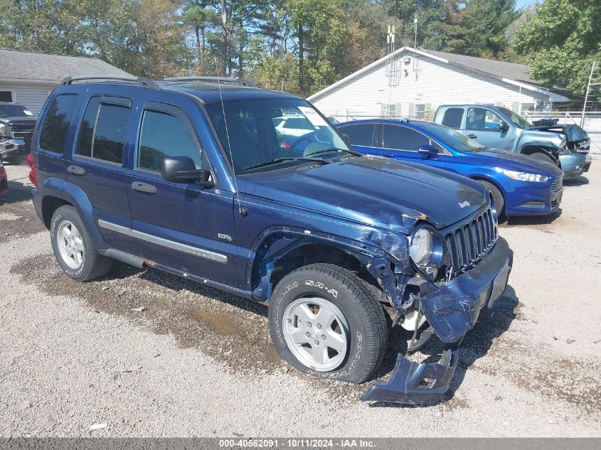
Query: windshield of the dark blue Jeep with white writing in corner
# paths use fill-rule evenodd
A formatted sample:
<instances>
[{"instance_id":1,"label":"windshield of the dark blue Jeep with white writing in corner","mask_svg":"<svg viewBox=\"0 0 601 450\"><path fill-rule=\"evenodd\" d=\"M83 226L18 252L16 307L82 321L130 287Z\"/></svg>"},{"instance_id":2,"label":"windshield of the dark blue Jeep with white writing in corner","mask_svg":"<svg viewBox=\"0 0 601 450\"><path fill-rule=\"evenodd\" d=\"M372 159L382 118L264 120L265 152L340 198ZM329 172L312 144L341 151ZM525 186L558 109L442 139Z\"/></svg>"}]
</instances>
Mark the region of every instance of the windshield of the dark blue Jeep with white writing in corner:
<instances>
[{"instance_id":1,"label":"windshield of the dark blue Jeep with white writing in corner","mask_svg":"<svg viewBox=\"0 0 601 450\"><path fill-rule=\"evenodd\" d=\"M224 102L225 120L221 103L205 107L237 175L306 164L303 158L315 159L318 154L320 158L339 156L336 149L352 151L304 100ZM268 164L271 161L275 164Z\"/></svg>"}]
</instances>

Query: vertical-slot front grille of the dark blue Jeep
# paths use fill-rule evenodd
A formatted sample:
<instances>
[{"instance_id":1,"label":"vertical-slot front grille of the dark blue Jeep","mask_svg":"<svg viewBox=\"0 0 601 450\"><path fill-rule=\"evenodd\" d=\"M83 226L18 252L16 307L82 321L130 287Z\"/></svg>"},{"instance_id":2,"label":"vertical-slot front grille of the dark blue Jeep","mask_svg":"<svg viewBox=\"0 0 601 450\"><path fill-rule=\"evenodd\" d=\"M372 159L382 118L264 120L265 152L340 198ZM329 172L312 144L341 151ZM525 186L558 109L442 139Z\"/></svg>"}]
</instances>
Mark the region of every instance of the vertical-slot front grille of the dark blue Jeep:
<instances>
[{"instance_id":1,"label":"vertical-slot front grille of the dark blue Jeep","mask_svg":"<svg viewBox=\"0 0 601 450\"><path fill-rule=\"evenodd\" d=\"M461 271L471 269L486 255L497 237L499 231L491 208L447 233L445 243L452 267Z\"/></svg>"}]
</instances>

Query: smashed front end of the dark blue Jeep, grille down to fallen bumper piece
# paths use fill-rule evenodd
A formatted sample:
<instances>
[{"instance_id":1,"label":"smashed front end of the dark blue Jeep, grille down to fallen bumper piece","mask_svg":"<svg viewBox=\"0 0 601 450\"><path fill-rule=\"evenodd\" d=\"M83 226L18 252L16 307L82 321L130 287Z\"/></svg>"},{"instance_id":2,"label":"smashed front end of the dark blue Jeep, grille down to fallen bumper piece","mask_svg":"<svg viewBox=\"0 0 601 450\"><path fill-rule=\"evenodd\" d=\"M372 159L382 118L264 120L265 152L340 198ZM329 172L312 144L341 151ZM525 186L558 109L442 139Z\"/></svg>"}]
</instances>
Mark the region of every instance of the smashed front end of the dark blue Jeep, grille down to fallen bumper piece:
<instances>
[{"instance_id":1,"label":"smashed front end of the dark blue Jeep, grille down to fallen bumper piece","mask_svg":"<svg viewBox=\"0 0 601 450\"><path fill-rule=\"evenodd\" d=\"M486 220L493 226L486 228ZM417 314L425 316L429 328L418 339L416 328L408 345L408 351L417 350L436 334L445 343L440 361L413 363L399 354L390 379L374 381L361 400L408 405L438 402L449 389L464 334L474 326L481 309L485 305L491 308L504 293L513 252L506 240L496 235L492 218L486 213L477 216L467 225L450 230L445 242L447 261L464 270L438 284L427 281L428 274L422 272L419 292L412 294L411 303Z\"/></svg>"}]
</instances>

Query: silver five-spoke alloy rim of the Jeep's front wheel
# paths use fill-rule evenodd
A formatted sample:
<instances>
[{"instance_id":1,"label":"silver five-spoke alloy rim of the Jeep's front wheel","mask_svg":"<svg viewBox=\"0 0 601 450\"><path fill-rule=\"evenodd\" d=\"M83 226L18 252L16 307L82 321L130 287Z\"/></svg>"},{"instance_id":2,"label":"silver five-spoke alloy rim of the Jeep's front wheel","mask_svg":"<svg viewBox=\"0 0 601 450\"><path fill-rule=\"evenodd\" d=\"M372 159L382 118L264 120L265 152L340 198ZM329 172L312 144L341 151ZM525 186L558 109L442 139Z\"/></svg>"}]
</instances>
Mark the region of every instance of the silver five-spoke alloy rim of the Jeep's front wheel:
<instances>
[{"instance_id":1,"label":"silver five-spoke alloy rim of the Jeep's front wheel","mask_svg":"<svg viewBox=\"0 0 601 450\"><path fill-rule=\"evenodd\" d=\"M339 368L349 348L349 324L342 311L319 296L294 300L284 311L284 340L307 368L329 372Z\"/></svg>"}]
</instances>

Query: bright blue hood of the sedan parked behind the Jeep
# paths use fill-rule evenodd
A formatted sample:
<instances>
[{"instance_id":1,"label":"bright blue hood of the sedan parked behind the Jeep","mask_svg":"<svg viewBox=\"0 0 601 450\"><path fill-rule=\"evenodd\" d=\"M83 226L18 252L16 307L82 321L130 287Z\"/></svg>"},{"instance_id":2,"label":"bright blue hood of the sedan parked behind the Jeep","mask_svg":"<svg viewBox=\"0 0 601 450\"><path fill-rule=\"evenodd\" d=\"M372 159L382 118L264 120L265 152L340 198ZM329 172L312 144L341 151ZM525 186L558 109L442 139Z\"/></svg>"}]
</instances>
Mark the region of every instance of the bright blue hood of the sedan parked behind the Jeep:
<instances>
[{"instance_id":1,"label":"bright blue hood of the sedan parked behind the Jeep","mask_svg":"<svg viewBox=\"0 0 601 450\"><path fill-rule=\"evenodd\" d=\"M561 169L551 163L538 161L530 156L514 153L513 151L484 149L472 153L462 153L462 162L478 166L499 167L506 170L539 173L541 175L561 175ZM467 159L467 161L464 161Z\"/></svg>"}]
</instances>

